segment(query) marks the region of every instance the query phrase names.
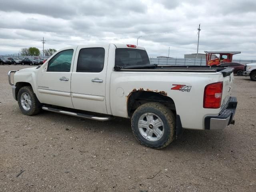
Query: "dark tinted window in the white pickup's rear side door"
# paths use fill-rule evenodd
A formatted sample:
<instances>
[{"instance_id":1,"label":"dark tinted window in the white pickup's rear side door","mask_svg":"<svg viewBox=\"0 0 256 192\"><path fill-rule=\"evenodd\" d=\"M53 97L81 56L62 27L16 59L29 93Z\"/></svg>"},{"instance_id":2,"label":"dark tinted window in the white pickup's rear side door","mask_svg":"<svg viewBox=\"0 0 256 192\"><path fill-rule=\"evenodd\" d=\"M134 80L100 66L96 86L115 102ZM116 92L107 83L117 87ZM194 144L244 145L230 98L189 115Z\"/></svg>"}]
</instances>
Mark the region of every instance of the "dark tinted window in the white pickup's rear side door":
<instances>
[{"instance_id":1,"label":"dark tinted window in the white pickup's rear side door","mask_svg":"<svg viewBox=\"0 0 256 192\"><path fill-rule=\"evenodd\" d=\"M104 48L84 48L78 55L76 72L101 72L104 67Z\"/></svg>"}]
</instances>

